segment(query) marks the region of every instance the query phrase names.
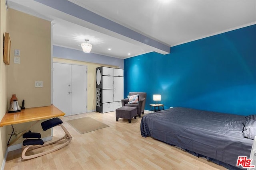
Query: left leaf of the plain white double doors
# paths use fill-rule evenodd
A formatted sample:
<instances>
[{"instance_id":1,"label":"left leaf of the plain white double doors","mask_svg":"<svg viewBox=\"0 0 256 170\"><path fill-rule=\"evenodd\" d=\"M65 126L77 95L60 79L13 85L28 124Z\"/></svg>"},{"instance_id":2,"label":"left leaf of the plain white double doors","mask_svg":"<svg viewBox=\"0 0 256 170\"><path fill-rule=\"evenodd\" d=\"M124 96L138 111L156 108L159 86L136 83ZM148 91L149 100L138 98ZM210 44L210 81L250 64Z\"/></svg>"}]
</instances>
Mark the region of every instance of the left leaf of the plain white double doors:
<instances>
[{"instance_id":1,"label":"left leaf of the plain white double doors","mask_svg":"<svg viewBox=\"0 0 256 170\"><path fill-rule=\"evenodd\" d=\"M71 115L71 65L53 63L53 105Z\"/></svg>"}]
</instances>

